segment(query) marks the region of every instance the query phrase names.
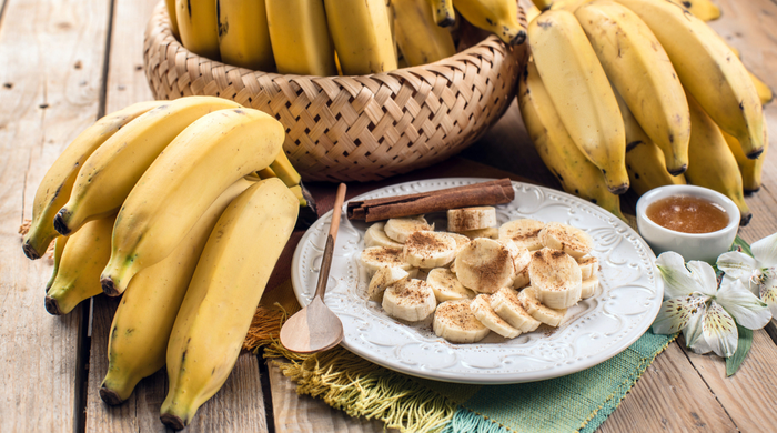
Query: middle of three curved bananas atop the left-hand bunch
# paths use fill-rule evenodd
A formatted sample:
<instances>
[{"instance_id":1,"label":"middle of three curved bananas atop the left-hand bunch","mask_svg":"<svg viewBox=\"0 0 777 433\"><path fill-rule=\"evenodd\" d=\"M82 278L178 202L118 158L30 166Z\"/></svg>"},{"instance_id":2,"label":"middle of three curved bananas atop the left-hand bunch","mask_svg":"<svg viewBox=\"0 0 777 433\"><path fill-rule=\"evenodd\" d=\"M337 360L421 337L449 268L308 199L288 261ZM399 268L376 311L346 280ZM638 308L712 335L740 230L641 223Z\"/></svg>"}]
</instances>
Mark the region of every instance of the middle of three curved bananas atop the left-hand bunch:
<instances>
[{"instance_id":1,"label":"middle of three curved bananas atop the left-hand bunch","mask_svg":"<svg viewBox=\"0 0 777 433\"><path fill-rule=\"evenodd\" d=\"M181 98L128 123L83 163L70 199L54 216L54 229L70 234L87 221L115 213L143 172L184 128L211 111L238 107L222 98Z\"/></svg>"}]
</instances>

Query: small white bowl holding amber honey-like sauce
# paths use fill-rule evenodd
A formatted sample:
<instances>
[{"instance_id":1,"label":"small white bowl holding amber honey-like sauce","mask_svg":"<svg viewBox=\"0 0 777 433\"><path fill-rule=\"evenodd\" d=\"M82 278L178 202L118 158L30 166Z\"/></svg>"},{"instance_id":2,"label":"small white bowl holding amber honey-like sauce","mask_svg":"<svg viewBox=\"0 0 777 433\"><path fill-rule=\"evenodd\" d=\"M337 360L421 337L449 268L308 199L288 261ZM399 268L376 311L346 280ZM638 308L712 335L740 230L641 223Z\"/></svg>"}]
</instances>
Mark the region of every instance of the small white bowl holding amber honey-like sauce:
<instances>
[{"instance_id":1,"label":"small white bowl holding amber honey-like sauce","mask_svg":"<svg viewBox=\"0 0 777 433\"><path fill-rule=\"evenodd\" d=\"M692 195L707 199L726 210L730 221L728 225L710 233L683 233L666 229L647 218L647 207L657 200L670 195ZM655 188L643 194L637 201L637 228L656 255L674 251L688 260L715 262L718 255L727 252L739 229L739 209L726 195L708 188L694 185L667 185Z\"/></svg>"}]
</instances>

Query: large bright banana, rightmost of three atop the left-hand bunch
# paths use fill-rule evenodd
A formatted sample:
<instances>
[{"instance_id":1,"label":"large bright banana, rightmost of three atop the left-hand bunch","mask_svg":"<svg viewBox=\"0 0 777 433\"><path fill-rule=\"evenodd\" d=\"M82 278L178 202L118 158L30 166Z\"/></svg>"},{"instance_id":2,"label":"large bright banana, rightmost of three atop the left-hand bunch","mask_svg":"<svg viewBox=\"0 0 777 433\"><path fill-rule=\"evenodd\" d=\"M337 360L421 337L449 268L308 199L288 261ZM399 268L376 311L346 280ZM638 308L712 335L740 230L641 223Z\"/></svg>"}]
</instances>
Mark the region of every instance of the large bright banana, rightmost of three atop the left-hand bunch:
<instances>
[{"instance_id":1,"label":"large bright banana, rightmost of three atop the left-hand bunch","mask_svg":"<svg viewBox=\"0 0 777 433\"><path fill-rule=\"evenodd\" d=\"M134 274L167 258L229 185L270 165L284 132L273 117L244 108L212 112L183 130L117 216L103 291L121 294Z\"/></svg>"}]
</instances>

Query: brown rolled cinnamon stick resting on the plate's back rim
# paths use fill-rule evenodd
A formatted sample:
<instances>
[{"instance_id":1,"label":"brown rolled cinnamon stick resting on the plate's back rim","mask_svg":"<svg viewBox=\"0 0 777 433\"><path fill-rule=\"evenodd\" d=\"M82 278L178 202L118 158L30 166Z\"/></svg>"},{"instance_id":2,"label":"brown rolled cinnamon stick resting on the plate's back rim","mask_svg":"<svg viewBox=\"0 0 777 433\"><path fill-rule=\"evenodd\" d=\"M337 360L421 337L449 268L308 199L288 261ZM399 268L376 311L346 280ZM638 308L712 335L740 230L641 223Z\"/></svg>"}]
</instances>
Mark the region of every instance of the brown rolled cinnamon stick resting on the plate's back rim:
<instances>
[{"instance_id":1,"label":"brown rolled cinnamon stick resting on the plate's back rim","mask_svg":"<svg viewBox=\"0 0 777 433\"><path fill-rule=\"evenodd\" d=\"M416 194L349 202L347 218L366 222L446 211L448 209L509 203L515 191L509 179L448 188Z\"/></svg>"}]
</instances>

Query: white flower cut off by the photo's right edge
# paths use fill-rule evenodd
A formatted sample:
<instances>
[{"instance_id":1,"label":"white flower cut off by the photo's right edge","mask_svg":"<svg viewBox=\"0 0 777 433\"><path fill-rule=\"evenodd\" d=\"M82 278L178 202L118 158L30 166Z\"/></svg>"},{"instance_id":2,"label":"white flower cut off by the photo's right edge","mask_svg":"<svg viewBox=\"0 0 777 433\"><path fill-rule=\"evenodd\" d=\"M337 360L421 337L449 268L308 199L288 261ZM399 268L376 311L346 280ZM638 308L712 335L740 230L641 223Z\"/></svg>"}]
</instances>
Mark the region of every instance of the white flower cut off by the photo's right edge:
<instances>
[{"instance_id":1,"label":"white flower cut off by the photo's right edge","mask_svg":"<svg viewBox=\"0 0 777 433\"><path fill-rule=\"evenodd\" d=\"M725 280L739 280L756 296L769 305L777 318L777 233L750 245L755 259L734 251L720 254L718 269Z\"/></svg>"}]
</instances>

